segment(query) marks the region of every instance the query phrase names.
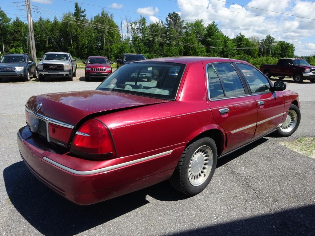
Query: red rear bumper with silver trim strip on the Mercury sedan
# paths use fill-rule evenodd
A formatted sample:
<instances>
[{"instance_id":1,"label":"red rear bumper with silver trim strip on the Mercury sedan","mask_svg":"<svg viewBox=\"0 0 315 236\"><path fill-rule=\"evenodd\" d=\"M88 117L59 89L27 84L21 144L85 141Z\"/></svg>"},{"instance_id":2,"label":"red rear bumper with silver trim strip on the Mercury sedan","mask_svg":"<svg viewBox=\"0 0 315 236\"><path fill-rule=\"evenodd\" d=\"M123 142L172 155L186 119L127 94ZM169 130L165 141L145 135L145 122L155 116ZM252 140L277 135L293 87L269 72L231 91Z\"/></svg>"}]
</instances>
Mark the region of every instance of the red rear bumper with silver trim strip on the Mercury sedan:
<instances>
[{"instance_id":1,"label":"red rear bumper with silver trim strip on the Mercury sedan","mask_svg":"<svg viewBox=\"0 0 315 236\"><path fill-rule=\"evenodd\" d=\"M69 153L57 154L49 143L32 135L28 126L19 130L17 142L29 170L49 188L79 205L94 204L168 179L184 148L169 149L147 159L140 155L139 159L117 165L114 163L130 156L85 160Z\"/></svg>"}]
</instances>

